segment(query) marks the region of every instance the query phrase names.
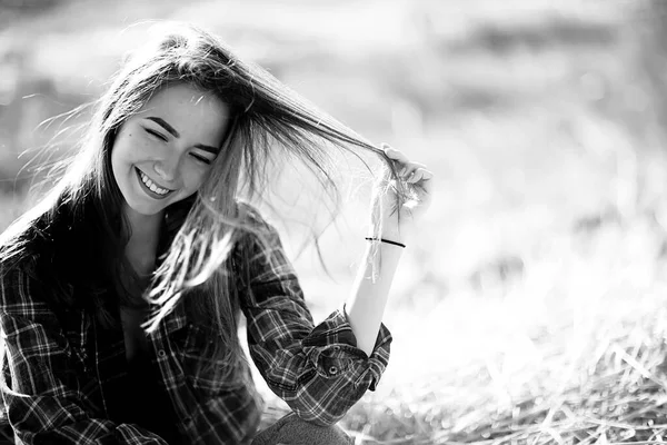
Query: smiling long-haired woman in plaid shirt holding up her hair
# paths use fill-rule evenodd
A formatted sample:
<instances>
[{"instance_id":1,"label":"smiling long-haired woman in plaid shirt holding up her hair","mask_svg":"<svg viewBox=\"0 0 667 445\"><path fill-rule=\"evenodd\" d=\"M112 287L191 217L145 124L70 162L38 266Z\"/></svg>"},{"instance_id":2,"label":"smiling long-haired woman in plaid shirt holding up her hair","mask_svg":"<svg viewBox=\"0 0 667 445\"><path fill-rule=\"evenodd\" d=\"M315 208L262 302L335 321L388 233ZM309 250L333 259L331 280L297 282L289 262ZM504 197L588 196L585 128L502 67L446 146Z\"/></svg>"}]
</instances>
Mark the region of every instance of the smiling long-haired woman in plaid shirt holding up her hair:
<instances>
[{"instance_id":1,"label":"smiling long-haired woman in plaid shirt holding up her hair","mask_svg":"<svg viewBox=\"0 0 667 445\"><path fill-rule=\"evenodd\" d=\"M272 157L335 189L335 148L387 166L349 300L313 326L248 202ZM381 324L431 174L376 148L190 26L136 51L57 187L0 237L2 397L24 444L344 444L389 359ZM257 433L239 345L292 413Z\"/></svg>"}]
</instances>

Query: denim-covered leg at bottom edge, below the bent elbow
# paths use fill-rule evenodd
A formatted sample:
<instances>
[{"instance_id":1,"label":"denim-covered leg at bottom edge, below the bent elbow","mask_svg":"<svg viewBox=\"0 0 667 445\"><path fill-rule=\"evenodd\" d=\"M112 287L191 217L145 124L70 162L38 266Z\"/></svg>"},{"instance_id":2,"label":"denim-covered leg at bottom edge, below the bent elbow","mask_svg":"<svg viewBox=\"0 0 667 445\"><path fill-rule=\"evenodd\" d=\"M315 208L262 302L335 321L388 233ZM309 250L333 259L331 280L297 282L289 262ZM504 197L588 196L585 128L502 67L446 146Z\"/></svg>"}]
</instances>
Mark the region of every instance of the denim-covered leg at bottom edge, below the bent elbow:
<instances>
[{"instance_id":1,"label":"denim-covered leg at bottom edge, below the bent elbow","mask_svg":"<svg viewBox=\"0 0 667 445\"><path fill-rule=\"evenodd\" d=\"M301 421L295 413L262 429L251 445L354 445L341 427L318 426Z\"/></svg>"}]
</instances>

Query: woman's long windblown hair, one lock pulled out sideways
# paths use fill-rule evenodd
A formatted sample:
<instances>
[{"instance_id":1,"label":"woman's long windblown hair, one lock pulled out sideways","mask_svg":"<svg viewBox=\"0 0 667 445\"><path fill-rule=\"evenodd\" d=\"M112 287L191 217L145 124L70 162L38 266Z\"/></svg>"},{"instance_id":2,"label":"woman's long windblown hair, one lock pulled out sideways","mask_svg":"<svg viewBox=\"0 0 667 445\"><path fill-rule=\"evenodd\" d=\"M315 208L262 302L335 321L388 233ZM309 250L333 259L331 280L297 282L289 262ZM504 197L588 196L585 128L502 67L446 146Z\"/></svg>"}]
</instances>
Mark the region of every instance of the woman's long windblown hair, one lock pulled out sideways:
<instances>
[{"instance_id":1,"label":"woman's long windblown hair, one lock pulled out sideways","mask_svg":"<svg viewBox=\"0 0 667 445\"><path fill-rule=\"evenodd\" d=\"M83 286L86 280L99 288L113 284L121 297L131 294L118 285L122 274L131 275L131 267L123 256L128 227L121 214L123 198L111 171L111 150L123 122L157 91L178 82L215 93L230 107L232 125L226 148L200 190L167 209L170 245L145 294L156 308L147 329L157 329L180 298L191 296L189 305L198 316L208 318L219 338L211 354L230 358L240 350L230 270L232 261L248 260L235 257L235 248L248 236L268 248L266 230L251 224L250 207L239 201L252 202L263 194L271 159L292 156L302 161L335 199L332 150L357 156L376 152L395 178L397 172L381 149L198 28L167 27L167 32L126 60L98 101L81 149L62 178L0 237L0 263L18 264L34 254L29 250L39 250L30 245L47 246L42 251L53 254L42 263L53 271L49 278L38 270L44 286ZM405 194L399 190L399 200ZM64 225L58 222L60 217ZM103 313L103 291L89 287L89 304Z\"/></svg>"}]
</instances>

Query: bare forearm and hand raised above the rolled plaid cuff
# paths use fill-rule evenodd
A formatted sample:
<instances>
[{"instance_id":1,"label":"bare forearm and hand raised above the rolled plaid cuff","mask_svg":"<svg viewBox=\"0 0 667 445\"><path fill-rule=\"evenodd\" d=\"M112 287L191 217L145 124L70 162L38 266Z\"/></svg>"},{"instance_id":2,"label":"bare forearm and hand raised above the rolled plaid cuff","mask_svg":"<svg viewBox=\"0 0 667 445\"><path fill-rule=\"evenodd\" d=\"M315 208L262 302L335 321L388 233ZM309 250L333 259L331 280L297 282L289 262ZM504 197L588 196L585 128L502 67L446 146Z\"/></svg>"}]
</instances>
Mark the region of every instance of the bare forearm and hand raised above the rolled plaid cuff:
<instances>
[{"instance_id":1,"label":"bare forearm and hand raised above the rolled plaid cuff","mask_svg":"<svg viewBox=\"0 0 667 445\"><path fill-rule=\"evenodd\" d=\"M387 176L380 178L371 198L371 226L380 224L381 239L409 244L410 235L416 229L419 216L430 204L432 174L424 165L410 162L399 150L386 146L385 152L394 160L402 180L415 192L415 199L394 211L394 202L396 201L394 188L382 186L390 178ZM374 257L372 246L369 243L352 286L350 298L346 304L347 317L357 337L357 346L367 355L370 355L374 350L389 298L391 281L402 250L401 246L380 241L377 257Z\"/></svg>"}]
</instances>

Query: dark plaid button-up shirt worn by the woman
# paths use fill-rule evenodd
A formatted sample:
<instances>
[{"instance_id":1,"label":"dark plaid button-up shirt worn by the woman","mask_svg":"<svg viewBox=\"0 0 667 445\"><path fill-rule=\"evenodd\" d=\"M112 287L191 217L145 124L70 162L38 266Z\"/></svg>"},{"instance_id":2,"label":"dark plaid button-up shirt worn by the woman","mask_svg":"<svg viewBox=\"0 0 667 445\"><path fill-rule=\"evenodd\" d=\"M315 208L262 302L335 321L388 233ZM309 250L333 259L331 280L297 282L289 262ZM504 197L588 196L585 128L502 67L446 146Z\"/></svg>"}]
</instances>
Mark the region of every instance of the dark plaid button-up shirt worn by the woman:
<instances>
[{"instance_id":1,"label":"dark plaid button-up shirt worn by the woman","mask_svg":"<svg viewBox=\"0 0 667 445\"><path fill-rule=\"evenodd\" d=\"M317 327L278 235L255 256L240 295L250 355L269 387L303 419L339 421L374 390L389 359L382 325L368 357L356 347L345 308ZM0 265L1 266L1 265ZM4 342L2 396L17 443L166 444L146 425L126 423L128 374L122 333L102 332L83 310L53 308L27 268L0 267L0 328ZM57 310L54 310L57 309ZM248 364L216 363L201 350L210 337L182 304L149 336L156 389L186 444L242 444L259 424L262 402Z\"/></svg>"}]
</instances>

